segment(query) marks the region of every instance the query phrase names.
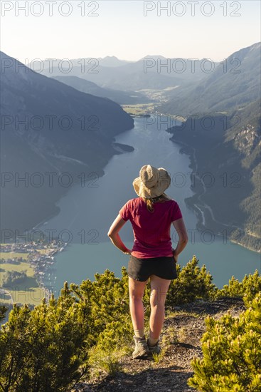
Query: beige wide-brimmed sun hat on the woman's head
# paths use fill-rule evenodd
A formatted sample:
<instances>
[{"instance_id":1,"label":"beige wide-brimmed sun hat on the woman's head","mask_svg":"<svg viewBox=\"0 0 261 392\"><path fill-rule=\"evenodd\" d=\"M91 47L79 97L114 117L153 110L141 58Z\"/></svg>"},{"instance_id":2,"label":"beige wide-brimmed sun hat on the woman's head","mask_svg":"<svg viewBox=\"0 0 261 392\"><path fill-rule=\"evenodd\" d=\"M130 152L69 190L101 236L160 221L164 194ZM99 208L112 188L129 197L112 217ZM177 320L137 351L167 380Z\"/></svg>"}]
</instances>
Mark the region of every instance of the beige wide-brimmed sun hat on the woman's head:
<instances>
[{"instance_id":1,"label":"beige wide-brimmed sun hat on the woman's head","mask_svg":"<svg viewBox=\"0 0 261 392\"><path fill-rule=\"evenodd\" d=\"M170 183L171 177L163 167L156 169L151 165L144 165L132 185L138 196L152 199L162 195Z\"/></svg>"}]
</instances>

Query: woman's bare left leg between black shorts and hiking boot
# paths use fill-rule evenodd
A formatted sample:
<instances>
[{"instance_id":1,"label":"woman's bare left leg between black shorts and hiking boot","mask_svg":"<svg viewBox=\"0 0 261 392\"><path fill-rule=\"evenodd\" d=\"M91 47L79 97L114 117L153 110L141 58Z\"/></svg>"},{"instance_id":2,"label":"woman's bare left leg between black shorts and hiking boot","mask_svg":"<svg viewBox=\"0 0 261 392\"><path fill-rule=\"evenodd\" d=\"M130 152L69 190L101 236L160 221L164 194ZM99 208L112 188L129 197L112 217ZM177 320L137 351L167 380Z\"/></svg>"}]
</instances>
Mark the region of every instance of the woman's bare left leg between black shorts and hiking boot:
<instances>
[{"instance_id":1,"label":"woman's bare left leg between black shorts and hiking boot","mask_svg":"<svg viewBox=\"0 0 261 392\"><path fill-rule=\"evenodd\" d=\"M144 329L144 306L142 298L148 281L139 282L129 277L129 310L133 329Z\"/></svg>"}]
</instances>

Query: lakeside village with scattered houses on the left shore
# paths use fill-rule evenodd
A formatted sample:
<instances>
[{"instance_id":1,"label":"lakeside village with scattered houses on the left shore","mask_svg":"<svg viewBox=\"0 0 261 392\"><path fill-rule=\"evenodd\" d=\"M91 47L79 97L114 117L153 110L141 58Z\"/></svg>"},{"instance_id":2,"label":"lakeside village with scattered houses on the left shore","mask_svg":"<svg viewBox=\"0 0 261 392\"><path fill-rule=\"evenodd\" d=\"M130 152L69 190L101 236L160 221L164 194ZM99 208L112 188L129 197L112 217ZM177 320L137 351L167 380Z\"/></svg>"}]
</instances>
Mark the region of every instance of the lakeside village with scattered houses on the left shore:
<instances>
[{"instance_id":1,"label":"lakeside village with scattered houses on the left shore","mask_svg":"<svg viewBox=\"0 0 261 392\"><path fill-rule=\"evenodd\" d=\"M34 277L41 289L45 292L46 299L50 299L50 290L45 287L45 282L50 280L51 272L54 272L53 264L55 263L55 254L62 252L68 245L60 239L53 239L51 242L43 240L32 241L25 244L11 243L0 244L0 264L21 264L22 262L28 263L33 268ZM4 253L9 252L12 256L14 254L26 254L26 257L3 257Z\"/></svg>"}]
</instances>

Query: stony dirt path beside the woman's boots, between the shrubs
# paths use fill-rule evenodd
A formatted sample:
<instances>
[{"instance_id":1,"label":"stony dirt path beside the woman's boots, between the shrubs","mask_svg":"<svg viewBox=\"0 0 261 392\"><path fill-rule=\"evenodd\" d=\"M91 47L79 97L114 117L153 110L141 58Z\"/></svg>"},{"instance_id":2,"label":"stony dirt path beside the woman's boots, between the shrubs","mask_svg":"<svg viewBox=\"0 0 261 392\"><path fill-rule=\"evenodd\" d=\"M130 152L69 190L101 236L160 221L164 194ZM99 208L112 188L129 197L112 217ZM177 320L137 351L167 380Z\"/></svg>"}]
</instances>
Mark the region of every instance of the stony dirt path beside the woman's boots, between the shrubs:
<instances>
[{"instance_id":1,"label":"stony dirt path beside the woman's boots, between the shrubs","mask_svg":"<svg viewBox=\"0 0 261 392\"><path fill-rule=\"evenodd\" d=\"M191 360L202 356L200 339L206 331L204 319L208 314L219 319L228 310L232 316L238 316L245 310L243 301L225 298L167 309L161 334L161 349L166 352L159 363L124 356L122 371L116 376L101 373L92 381L79 383L71 391L195 391L188 387L187 380L193 374Z\"/></svg>"}]
</instances>

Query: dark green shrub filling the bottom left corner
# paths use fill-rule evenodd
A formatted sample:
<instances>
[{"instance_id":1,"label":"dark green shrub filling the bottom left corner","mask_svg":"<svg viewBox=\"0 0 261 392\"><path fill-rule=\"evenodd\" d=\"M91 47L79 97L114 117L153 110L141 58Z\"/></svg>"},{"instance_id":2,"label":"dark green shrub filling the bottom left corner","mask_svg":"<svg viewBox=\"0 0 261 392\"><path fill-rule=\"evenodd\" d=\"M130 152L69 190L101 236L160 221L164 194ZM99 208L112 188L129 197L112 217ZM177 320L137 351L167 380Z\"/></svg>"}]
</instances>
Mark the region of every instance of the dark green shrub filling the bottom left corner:
<instances>
[{"instance_id":1,"label":"dark green shrub filling the bottom left corner","mask_svg":"<svg viewBox=\"0 0 261 392\"><path fill-rule=\"evenodd\" d=\"M67 284L50 303L31 310L14 305L0 331L2 391L68 391L86 368L85 303L75 303ZM82 366L82 368L80 368Z\"/></svg>"}]
</instances>

